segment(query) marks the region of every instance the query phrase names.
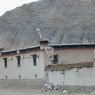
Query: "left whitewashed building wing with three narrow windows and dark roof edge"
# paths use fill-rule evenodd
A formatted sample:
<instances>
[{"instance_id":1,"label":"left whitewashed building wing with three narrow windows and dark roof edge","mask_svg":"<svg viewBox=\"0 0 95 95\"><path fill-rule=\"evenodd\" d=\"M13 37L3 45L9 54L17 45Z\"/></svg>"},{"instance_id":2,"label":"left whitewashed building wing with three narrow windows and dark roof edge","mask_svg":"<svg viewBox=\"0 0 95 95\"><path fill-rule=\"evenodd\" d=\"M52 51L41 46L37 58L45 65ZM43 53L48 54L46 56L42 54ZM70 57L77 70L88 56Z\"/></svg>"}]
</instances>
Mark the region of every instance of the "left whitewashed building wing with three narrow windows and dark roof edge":
<instances>
[{"instance_id":1,"label":"left whitewashed building wing with three narrow windows and dark roof edge","mask_svg":"<svg viewBox=\"0 0 95 95\"><path fill-rule=\"evenodd\" d=\"M44 46L2 51L0 79L44 79Z\"/></svg>"}]
</instances>

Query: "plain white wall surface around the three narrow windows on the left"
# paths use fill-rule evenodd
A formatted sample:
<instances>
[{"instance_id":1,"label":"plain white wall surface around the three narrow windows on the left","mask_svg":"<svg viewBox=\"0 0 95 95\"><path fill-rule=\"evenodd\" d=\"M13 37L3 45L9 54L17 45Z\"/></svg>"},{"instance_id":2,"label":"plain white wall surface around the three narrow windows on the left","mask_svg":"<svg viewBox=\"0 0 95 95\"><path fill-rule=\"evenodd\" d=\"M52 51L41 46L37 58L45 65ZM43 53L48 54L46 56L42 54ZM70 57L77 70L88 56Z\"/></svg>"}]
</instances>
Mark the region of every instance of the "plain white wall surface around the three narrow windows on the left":
<instances>
[{"instance_id":1,"label":"plain white wall surface around the three narrow windows on the left","mask_svg":"<svg viewBox=\"0 0 95 95\"><path fill-rule=\"evenodd\" d=\"M33 65L33 54L37 54L37 65ZM17 66L16 56L7 57L7 68L4 67L4 60L0 58L0 79L43 79L44 78L44 63L40 52L22 54L21 67ZM41 57L41 58L40 58ZM35 77L37 75L37 77Z\"/></svg>"}]
</instances>

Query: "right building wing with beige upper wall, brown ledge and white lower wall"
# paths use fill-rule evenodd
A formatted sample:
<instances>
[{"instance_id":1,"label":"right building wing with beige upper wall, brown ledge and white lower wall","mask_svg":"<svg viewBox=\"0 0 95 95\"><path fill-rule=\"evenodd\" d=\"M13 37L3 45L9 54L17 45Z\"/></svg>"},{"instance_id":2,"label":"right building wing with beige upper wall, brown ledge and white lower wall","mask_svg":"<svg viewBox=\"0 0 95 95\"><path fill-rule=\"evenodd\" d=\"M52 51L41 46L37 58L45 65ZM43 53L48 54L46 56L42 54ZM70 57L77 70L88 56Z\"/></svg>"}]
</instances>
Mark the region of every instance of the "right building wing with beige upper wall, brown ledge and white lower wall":
<instances>
[{"instance_id":1,"label":"right building wing with beige upper wall, brown ledge and white lower wall","mask_svg":"<svg viewBox=\"0 0 95 95\"><path fill-rule=\"evenodd\" d=\"M95 44L54 45L54 63L46 66L49 83L95 86Z\"/></svg>"}]
</instances>

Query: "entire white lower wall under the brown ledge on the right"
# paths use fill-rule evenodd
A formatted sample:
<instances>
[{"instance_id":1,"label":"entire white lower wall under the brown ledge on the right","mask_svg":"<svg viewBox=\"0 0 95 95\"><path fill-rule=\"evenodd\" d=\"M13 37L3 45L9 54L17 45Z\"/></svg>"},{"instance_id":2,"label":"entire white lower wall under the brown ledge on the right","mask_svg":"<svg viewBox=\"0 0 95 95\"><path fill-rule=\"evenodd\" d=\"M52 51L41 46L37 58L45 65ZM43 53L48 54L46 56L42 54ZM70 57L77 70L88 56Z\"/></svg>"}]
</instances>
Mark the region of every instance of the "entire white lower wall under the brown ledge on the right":
<instances>
[{"instance_id":1,"label":"entire white lower wall under the brown ledge on the right","mask_svg":"<svg viewBox=\"0 0 95 95\"><path fill-rule=\"evenodd\" d=\"M95 67L82 68L76 72L76 68L62 71L49 71L49 83L55 85L80 85L80 86L95 86Z\"/></svg>"}]
</instances>

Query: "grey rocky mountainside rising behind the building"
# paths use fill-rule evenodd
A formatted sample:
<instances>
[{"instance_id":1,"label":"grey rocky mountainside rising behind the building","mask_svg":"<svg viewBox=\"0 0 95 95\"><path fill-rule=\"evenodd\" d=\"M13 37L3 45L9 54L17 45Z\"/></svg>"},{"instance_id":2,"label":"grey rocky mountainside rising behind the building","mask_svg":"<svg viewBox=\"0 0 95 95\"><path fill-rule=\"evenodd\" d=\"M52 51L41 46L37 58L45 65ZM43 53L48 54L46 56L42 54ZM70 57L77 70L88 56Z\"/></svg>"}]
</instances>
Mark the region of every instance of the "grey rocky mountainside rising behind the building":
<instances>
[{"instance_id":1,"label":"grey rocky mountainside rising behind the building","mask_svg":"<svg viewBox=\"0 0 95 95\"><path fill-rule=\"evenodd\" d=\"M40 0L0 17L0 43L5 49L37 45L95 42L95 0Z\"/></svg>"}]
</instances>

